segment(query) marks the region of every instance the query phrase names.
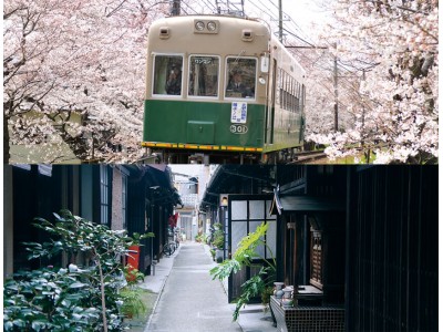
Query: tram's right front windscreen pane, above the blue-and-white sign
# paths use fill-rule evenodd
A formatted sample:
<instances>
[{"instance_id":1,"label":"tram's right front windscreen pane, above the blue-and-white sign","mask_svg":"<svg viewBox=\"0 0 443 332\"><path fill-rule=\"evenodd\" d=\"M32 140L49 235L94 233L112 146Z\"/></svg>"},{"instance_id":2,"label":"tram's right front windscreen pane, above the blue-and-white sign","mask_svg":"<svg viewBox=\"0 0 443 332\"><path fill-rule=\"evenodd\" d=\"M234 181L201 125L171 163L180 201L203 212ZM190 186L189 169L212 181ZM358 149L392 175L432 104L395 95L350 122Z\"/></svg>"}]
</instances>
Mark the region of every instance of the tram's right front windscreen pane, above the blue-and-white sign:
<instances>
[{"instance_id":1,"label":"tram's right front windscreen pane, above the blue-and-white sign","mask_svg":"<svg viewBox=\"0 0 443 332\"><path fill-rule=\"evenodd\" d=\"M229 58L226 68L226 97L255 98L257 60Z\"/></svg>"}]
</instances>

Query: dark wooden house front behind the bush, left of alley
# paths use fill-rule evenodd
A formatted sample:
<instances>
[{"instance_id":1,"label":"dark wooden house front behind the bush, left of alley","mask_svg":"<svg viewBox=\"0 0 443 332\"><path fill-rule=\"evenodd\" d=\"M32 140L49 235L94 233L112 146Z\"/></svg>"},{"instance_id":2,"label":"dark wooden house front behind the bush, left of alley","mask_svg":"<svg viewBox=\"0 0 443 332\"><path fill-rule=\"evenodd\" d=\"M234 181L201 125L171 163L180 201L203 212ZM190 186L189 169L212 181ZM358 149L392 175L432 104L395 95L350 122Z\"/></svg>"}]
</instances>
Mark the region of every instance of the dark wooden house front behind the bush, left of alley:
<instances>
[{"instance_id":1,"label":"dark wooden house front behind the bush, left of alley","mask_svg":"<svg viewBox=\"0 0 443 332\"><path fill-rule=\"evenodd\" d=\"M181 204L166 166L4 165L3 276L39 266L65 266L65 257L29 261L22 242L48 239L32 226L35 217L53 220L69 209L111 229L153 231L143 240L140 270L150 273L167 241L167 220Z\"/></svg>"}]
</instances>

